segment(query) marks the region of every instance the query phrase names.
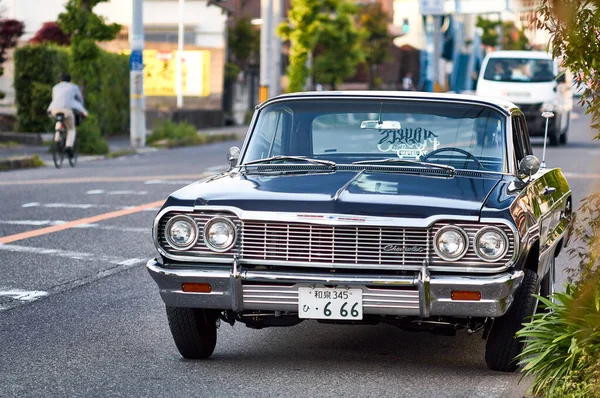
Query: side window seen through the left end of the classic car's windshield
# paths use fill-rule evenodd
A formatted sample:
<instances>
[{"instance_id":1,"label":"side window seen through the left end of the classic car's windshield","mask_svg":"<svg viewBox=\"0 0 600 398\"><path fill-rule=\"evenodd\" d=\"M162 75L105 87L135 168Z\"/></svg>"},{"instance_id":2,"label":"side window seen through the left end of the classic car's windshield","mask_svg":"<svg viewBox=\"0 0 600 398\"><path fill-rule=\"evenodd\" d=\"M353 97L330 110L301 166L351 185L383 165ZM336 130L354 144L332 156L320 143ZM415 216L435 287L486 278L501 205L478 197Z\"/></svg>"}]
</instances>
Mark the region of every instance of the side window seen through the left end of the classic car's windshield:
<instances>
[{"instance_id":1,"label":"side window seen through the left end of the classic car's windshield","mask_svg":"<svg viewBox=\"0 0 600 398\"><path fill-rule=\"evenodd\" d=\"M281 136L285 113L271 111L259 119L252 138L253 145L248 148L248 159L263 159L270 156L281 155Z\"/></svg>"}]
</instances>

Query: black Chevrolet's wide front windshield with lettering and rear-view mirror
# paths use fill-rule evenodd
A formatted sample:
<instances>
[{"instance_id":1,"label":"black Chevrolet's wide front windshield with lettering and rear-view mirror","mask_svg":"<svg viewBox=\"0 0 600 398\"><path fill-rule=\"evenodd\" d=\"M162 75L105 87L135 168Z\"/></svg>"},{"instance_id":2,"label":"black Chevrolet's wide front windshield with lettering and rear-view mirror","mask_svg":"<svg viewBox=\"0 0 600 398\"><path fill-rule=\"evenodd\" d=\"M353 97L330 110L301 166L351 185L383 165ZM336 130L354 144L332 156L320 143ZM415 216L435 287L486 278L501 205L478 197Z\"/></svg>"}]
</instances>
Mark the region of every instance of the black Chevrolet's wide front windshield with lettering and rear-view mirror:
<instances>
[{"instance_id":1,"label":"black Chevrolet's wide front windshield with lettering and rear-view mirror","mask_svg":"<svg viewBox=\"0 0 600 398\"><path fill-rule=\"evenodd\" d=\"M450 102L291 100L260 111L241 163L272 156L337 164L391 158L504 172L504 120L493 109Z\"/></svg>"}]
</instances>

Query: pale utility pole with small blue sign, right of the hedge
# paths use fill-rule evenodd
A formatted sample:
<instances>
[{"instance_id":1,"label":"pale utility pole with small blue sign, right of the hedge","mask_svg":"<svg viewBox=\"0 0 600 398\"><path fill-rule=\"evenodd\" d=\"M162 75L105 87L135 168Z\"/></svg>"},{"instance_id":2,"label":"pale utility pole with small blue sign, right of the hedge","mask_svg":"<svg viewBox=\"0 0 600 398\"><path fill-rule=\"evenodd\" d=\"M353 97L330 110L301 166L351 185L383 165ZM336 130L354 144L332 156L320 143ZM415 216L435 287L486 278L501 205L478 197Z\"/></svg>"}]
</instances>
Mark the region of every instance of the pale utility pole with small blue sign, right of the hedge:
<instances>
[{"instance_id":1,"label":"pale utility pole with small blue sign, right of the hedge","mask_svg":"<svg viewBox=\"0 0 600 398\"><path fill-rule=\"evenodd\" d=\"M144 16L143 0L133 0L131 55L129 58L129 111L130 144L134 148L146 146L146 101L144 98Z\"/></svg>"}]
</instances>

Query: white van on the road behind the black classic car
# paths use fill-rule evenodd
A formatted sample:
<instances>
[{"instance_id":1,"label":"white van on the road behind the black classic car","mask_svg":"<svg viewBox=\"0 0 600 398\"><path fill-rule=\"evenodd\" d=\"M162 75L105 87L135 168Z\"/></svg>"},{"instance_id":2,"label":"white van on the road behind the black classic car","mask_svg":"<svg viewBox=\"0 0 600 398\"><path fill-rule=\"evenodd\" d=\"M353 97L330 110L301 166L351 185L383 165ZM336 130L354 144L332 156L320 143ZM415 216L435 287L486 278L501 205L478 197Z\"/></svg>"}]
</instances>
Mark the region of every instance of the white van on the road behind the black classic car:
<instances>
[{"instance_id":1,"label":"white van on the road behind the black classic car","mask_svg":"<svg viewBox=\"0 0 600 398\"><path fill-rule=\"evenodd\" d=\"M481 65L476 94L508 100L521 108L529 135L544 136L543 111L554 112L550 119L550 145L567 143L573 109L571 76L559 76L558 61L543 51L495 51Z\"/></svg>"}]
</instances>

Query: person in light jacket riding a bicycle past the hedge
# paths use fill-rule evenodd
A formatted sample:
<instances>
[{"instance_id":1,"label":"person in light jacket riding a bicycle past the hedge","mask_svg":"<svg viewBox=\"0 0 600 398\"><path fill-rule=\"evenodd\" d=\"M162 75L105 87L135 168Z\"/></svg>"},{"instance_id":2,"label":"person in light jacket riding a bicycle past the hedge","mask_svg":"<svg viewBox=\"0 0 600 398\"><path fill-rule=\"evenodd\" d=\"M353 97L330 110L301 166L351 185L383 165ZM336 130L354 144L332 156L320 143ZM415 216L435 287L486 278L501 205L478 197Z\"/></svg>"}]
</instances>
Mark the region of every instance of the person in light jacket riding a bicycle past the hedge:
<instances>
[{"instance_id":1,"label":"person in light jacket riding a bicycle past the hedge","mask_svg":"<svg viewBox=\"0 0 600 398\"><path fill-rule=\"evenodd\" d=\"M75 143L75 113L80 113L87 117L88 112L83 105L83 95L79 86L71 83L71 76L68 73L63 73L60 83L52 87L52 103L48 106L48 113L56 117L62 113L65 117L64 124L67 128L67 142L65 152L71 156L73 144ZM54 135L55 141L60 141L60 135L57 132Z\"/></svg>"}]
</instances>

